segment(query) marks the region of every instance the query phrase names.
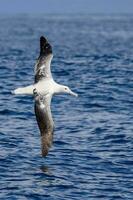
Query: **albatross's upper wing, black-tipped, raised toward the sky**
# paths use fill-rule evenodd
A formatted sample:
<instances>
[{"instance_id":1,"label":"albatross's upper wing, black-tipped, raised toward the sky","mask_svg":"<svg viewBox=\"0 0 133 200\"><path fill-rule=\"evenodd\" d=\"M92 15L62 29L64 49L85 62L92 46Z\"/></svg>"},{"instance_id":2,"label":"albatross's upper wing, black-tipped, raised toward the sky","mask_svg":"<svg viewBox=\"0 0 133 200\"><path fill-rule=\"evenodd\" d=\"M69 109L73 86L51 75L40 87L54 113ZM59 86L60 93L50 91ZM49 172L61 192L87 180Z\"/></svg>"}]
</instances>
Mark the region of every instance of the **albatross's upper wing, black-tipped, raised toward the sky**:
<instances>
[{"instance_id":1,"label":"albatross's upper wing, black-tipped, raised toward the sky","mask_svg":"<svg viewBox=\"0 0 133 200\"><path fill-rule=\"evenodd\" d=\"M53 58L52 47L43 36L40 37L40 56L35 65L35 83L43 78L51 78L50 64Z\"/></svg>"}]
</instances>

